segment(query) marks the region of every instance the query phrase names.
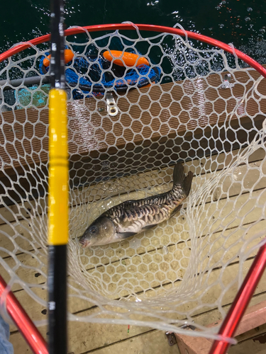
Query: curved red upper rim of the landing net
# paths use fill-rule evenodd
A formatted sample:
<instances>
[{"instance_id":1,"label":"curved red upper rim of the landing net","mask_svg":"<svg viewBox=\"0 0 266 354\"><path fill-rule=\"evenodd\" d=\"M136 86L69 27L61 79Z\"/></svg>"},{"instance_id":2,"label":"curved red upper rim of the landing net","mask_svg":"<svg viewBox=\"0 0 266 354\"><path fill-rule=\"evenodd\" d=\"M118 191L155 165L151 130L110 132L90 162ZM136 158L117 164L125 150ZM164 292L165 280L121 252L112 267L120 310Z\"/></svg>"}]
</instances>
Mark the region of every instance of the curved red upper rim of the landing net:
<instances>
[{"instance_id":1,"label":"curved red upper rim of the landing net","mask_svg":"<svg viewBox=\"0 0 266 354\"><path fill-rule=\"evenodd\" d=\"M232 55L237 55L237 57L247 64L253 69L257 70L262 76L266 78L266 69L262 67L255 59L252 59L245 53L241 52L226 43L221 42L220 40L215 40L214 38L210 38L206 35L200 35L199 33L190 32L189 30L181 30L179 28L171 28L162 25L143 25L143 24L131 24L131 23L110 23L107 25L89 25L84 27L77 28L69 28L65 30L65 36L67 35L76 35L78 33L83 33L84 31L88 32L97 32L97 31L105 31L105 30L135 30L135 27L138 27L138 30L147 30L152 32L160 32L160 33L170 33L173 35L181 35L186 36L188 38L199 40L201 42L205 42L209 45L213 45L214 47L219 47L226 52L231 53ZM12 55L26 50L31 45L38 45L43 42L48 42L50 40L50 34L42 35L41 37L34 38L33 40L29 40L28 42L23 42L21 44L15 45L15 47L6 50L6 52L0 55L0 62L3 62L5 59L11 57Z\"/></svg>"}]
</instances>

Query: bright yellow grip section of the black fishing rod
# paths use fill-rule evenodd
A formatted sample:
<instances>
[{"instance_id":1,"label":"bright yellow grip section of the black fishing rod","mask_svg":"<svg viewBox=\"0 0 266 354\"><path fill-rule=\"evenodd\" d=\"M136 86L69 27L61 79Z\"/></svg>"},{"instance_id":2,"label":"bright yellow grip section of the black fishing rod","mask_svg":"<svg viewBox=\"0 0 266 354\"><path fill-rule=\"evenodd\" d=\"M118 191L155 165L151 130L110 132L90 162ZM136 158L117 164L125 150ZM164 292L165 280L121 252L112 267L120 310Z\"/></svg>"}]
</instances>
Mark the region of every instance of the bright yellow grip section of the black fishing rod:
<instances>
[{"instance_id":1,"label":"bright yellow grip section of the black fishing rod","mask_svg":"<svg viewBox=\"0 0 266 354\"><path fill-rule=\"evenodd\" d=\"M48 244L68 241L67 95L50 90Z\"/></svg>"}]
</instances>

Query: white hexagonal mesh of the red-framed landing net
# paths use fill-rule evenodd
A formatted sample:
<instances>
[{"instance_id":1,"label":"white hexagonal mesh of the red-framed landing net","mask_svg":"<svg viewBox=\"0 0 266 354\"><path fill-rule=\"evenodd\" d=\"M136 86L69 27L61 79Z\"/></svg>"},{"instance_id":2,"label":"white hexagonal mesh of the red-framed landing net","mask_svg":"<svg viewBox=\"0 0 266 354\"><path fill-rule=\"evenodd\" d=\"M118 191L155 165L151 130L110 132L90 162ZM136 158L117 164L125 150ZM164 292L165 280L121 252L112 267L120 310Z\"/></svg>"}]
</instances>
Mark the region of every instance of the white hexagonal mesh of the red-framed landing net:
<instances>
[{"instance_id":1,"label":"white hexagonal mesh of the red-framed landing net","mask_svg":"<svg viewBox=\"0 0 266 354\"><path fill-rule=\"evenodd\" d=\"M178 35L84 31L66 44L74 52L66 66L70 319L175 332L194 321L194 335L215 338L199 314L225 316L264 236L264 79L233 55L198 50ZM40 63L48 48L9 57L0 72L0 273L35 309L47 299L50 84ZM125 70L104 61L106 50L135 52L150 66ZM33 76L41 80L28 84ZM194 179L176 216L131 239L79 246L104 210L170 190L177 161Z\"/></svg>"}]
</instances>

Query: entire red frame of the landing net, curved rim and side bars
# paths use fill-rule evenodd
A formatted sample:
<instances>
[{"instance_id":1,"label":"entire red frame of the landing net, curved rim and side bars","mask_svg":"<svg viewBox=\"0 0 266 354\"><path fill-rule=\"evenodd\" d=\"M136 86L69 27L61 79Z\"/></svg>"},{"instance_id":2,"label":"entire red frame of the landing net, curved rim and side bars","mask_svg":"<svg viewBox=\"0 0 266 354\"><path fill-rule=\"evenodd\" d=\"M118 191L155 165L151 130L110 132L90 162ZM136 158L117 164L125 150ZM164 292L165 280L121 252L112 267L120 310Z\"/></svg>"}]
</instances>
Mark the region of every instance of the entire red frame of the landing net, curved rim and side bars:
<instances>
[{"instance_id":1,"label":"entire red frame of the landing net, curved rim and side bars","mask_svg":"<svg viewBox=\"0 0 266 354\"><path fill-rule=\"evenodd\" d=\"M231 53L238 57L238 59L243 60L250 67L257 70L262 76L266 78L266 69L262 67L258 62L254 59L245 55L240 50L235 49L231 45L227 45L219 40L215 40L213 38L209 38L206 35L200 35L199 33L194 33L186 30L182 30L179 28L169 28L160 25L145 25L145 24L132 24L132 23L112 23L107 25L91 25L85 27L75 27L65 30L65 36L67 35L76 35L79 33L83 33L87 30L89 33L97 32L97 31L108 31L108 30L134 30L138 28L138 30L144 31L152 31L159 33L170 33L173 35L181 35L187 36L187 38L193 40L199 40L201 42L205 42L209 45L213 45L214 47L219 47L226 52ZM50 34L43 35L38 38L34 38L33 40L29 40L28 42L20 43L6 52L0 55L0 62L3 62L5 59L11 57L12 55L17 54L18 52L22 52L26 50L31 45L39 45L43 42L48 42L50 40ZM266 268L266 244L262 244L260 247L253 264L250 267L248 275L246 275L243 285L240 287L238 294L235 297L233 304L231 305L231 309L229 310L226 319L224 319L223 324L221 326L220 331L218 332L221 336L233 337L235 333L235 329L237 329L238 324L245 312L245 309L248 307L251 297L253 296L253 292L255 291L255 287L257 283L260 281L262 274ZM4 282L3 278L0 276L0 297L3 294L6 294L6 282ZM29 319L26 312L23 310L16 297L9 292L8 295L4 295L6 297L6 309L13 319L14 323L18 326L19 331L23 334L24 338L28 342L29 346L33 350L34 353L46 354L48 353L46 343L41 336L38 329L35 327L31 319ZM210 354L223 354L226 353L226 350L229 346L228 342L223 341L214 341L214 345L211 348Z\"/></svg>"}]
</instances>

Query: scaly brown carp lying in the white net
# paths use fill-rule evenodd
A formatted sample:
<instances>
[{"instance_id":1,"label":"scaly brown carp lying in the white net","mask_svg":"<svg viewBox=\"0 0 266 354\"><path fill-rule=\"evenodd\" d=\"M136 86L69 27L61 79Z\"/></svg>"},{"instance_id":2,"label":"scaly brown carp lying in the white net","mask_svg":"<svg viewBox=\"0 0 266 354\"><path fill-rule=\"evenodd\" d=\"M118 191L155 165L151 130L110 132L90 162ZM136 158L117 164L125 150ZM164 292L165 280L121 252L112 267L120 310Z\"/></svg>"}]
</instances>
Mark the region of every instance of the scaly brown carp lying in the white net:
<instances>
[{"instance_id":1,"label":"scaly brown carp lying in the white net","mask_svg":"<svg viewBox=\"0 0 266 354\"><path fill-rule=\"evenodd\" d=\"M170 219L189 195L192 179L192 171L185 176L182 164L176 164L171 190L143 199L126 200L111 207L89 225L79 243L84 249L112 244Z\"/></svg>"}]
</instances>

